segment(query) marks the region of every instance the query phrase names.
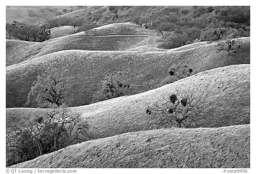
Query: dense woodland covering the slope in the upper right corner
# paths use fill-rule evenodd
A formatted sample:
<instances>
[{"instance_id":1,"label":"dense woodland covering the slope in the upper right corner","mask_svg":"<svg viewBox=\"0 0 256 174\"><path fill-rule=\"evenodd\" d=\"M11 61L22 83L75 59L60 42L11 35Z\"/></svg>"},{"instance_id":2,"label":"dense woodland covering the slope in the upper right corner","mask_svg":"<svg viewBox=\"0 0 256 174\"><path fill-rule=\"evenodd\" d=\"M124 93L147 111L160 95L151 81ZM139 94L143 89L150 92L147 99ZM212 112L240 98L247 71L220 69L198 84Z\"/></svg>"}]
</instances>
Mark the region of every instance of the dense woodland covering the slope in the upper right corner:
<instances>
[{"instance_id":1,"label":"dense woodland covering the slope in the upper right corner","mask_svg":"<svg viewBox=\"0 0 256 174\"><path fill-rule=\"evenodd\" d=\"M246 7L195 7L192 15L188 11L170 11L135 16L133 23L146 29L159 31L171 49L200 41L218 41L221 35L234 33L236 37L250 36L250 9ZM168 31L168 32L165 32ZM170 33L171 32L171 33Z\"/></svg>"}]
</instances>

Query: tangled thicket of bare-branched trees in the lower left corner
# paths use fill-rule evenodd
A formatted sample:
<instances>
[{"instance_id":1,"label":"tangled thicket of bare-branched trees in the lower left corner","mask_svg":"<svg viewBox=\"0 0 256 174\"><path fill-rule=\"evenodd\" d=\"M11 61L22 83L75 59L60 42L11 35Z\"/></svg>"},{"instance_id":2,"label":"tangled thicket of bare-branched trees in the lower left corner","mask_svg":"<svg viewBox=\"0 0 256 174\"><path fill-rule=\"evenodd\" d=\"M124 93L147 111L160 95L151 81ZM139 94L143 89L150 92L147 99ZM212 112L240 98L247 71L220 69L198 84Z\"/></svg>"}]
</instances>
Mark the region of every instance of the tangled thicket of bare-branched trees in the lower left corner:
<instances>
[{"instance_id":1,"label":"tangled thicket of bare-branched trees in the lower left corner","mask_svg":"<svg viewBox=\"0 0 256 174\"><path fill-rule=\"evenodd\" d=\"M89 124L66 105L56 106L29 118L6 116L6 166L34 159L92 138Z\"/></svg>"}]
</instances>

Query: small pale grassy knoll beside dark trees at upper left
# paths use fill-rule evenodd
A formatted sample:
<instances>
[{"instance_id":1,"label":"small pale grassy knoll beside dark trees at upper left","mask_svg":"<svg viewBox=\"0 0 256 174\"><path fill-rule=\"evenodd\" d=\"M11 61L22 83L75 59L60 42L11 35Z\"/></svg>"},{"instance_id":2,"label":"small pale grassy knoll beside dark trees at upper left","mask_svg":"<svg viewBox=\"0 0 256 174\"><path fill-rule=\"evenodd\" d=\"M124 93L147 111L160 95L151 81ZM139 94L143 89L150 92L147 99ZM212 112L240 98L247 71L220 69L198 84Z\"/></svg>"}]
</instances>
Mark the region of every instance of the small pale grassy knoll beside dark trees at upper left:
<instances>
[{"instance_id":1,"label":"small pale grassy knoll beside dark trees at upper left","mask_svg":"<svg viewBox=\"0 0 256 174\"><path fill-rule=\"evenodd\" d=\"M77 27L72 26L60 26L50 29L51 31L51 39L59 38L67 35L72 35L77 33Z\"/></svg>"}]
</instances>

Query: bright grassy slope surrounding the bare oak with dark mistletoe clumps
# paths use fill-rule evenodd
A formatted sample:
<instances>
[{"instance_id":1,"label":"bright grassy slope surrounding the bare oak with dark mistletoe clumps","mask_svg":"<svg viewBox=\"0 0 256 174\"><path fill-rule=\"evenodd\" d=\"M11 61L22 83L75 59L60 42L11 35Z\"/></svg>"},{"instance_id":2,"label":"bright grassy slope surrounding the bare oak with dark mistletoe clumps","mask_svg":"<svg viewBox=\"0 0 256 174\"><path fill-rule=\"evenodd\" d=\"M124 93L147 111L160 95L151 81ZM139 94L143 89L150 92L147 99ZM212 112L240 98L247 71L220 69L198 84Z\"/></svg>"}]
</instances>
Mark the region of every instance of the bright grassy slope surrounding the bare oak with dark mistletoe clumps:
<instances>
[{"instance_id":1,"label":"bright grassy slope surrounding the bare oak with dark mistletoe clumps","mask_svg":"<svg viewBox=\"0 0 256 174\"><path fill-rule=\"evenodd\" d=\"M17 85L20 86L20 85ZM76 88L79 88L77 86ZM146 114L147 105L163 100L176 90L188 90L202 97L208 112L203 127L250 123L250 66L234 65L204 71L169 85L132 96L71 108L87 118L95 138L154 128ZM79 95L75 96L79 100ZM7 108L6 116L42 112L36 108Z\"/></svg>"}]
</instances>

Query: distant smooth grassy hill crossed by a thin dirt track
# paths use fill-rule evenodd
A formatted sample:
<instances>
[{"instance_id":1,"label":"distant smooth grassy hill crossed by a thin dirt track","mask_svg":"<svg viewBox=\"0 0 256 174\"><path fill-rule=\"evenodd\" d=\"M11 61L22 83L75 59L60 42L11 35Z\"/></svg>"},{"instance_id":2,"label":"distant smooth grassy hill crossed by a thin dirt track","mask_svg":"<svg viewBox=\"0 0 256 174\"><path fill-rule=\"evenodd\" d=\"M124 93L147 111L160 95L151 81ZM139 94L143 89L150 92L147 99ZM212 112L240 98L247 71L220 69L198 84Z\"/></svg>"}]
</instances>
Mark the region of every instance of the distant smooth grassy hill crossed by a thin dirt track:
<instances>
[{"instance_id":1,"label":"distant smooth grassy hill crossed by a thin dirt track","mask_svg":"<svg viewBox=\"0 0 256 174\"><path fill-rule=\"evenodd\" d=\"M53 35L56 35L56 32L62 34L63 28L66 27L55 28ZM153 45L154 42L154 31L146 30L134 24L116 23L103 26L103 28L104 30L99 27L96 35L87 36L81 32L50 39L43 43L35 43L33 46L25 48L20 46L25 45L27 43L25 41L18 42L19 48L16 40L6 40L7 66L61 50L129 50L136 46ZM124 35L123 31L128 33Z\"/></svg>"}]
</instances>

